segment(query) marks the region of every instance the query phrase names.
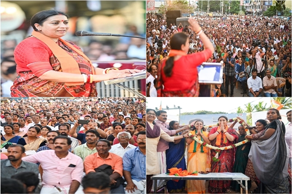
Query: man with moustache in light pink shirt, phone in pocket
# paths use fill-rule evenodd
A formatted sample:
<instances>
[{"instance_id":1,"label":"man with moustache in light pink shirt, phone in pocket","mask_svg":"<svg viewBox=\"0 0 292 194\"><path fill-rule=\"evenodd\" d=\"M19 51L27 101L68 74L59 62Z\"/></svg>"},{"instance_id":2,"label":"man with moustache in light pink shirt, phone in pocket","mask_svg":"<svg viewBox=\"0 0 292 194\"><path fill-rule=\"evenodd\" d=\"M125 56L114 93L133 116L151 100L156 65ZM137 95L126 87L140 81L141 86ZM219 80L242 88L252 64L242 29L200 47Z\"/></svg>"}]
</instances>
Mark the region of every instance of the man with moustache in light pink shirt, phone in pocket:
<instances>
[{"instance_id":1,"label":"man with moustache in light pink shirt, phone in pocket","mask_svg":"<svg viewBox=\"0 0 292 194\"><path fill-rule=\"evenodd\" d=\"M54 150L45 150L22 158L26 162L39 162L43 169L41 194L64 192L74 194L83 175L82 159L69 152L71 139L57 136Z\"/></svg>"}]
</instances>

